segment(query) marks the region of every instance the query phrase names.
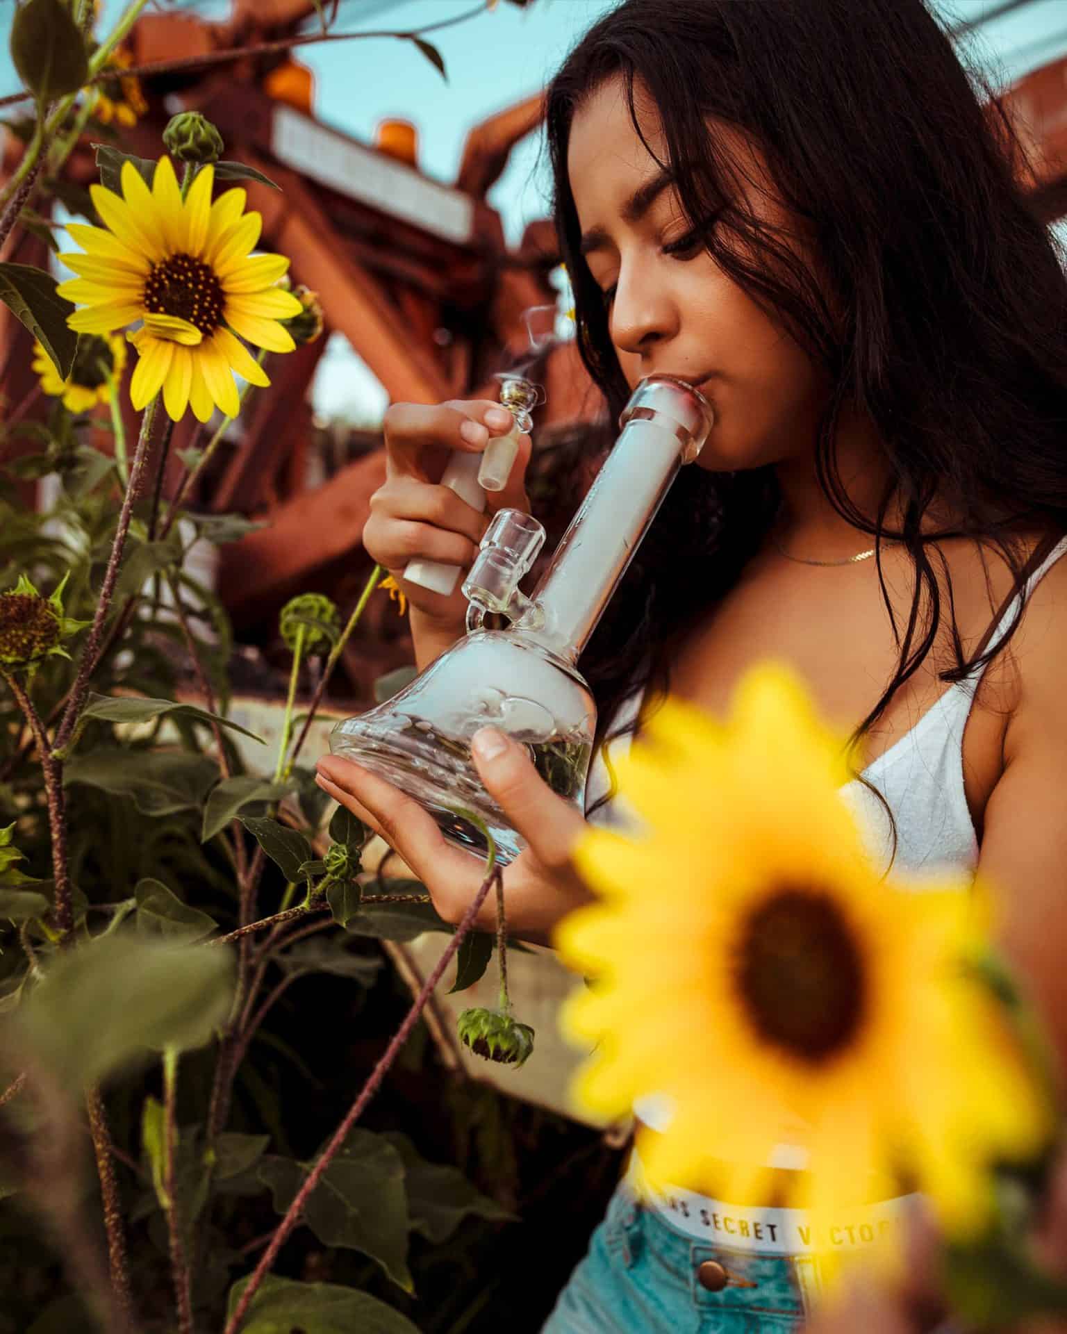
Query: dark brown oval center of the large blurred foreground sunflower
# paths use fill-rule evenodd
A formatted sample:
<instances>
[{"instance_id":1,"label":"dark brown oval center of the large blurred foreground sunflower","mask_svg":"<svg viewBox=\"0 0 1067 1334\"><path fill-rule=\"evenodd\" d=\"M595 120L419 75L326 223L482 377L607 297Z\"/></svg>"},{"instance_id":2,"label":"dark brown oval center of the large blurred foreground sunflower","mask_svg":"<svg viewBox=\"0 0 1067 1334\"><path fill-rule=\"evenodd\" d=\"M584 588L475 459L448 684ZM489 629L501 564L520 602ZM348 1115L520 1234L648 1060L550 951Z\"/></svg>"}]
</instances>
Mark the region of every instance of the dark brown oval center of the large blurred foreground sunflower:
<instances>
[{"instance_id":1,"label":"dark brown oval center of the large blurred foreground sunflower","mask_svg":"<svg viewBox=\"0 0 1067 1334\"><path fill-rule=\"evenodd\" d=\"M762 1037L812 1065L842 1051L863 1019L859 942L838 904L816 890L782 890L752 912L735 980Z\"/></svg>"}]
</instances>

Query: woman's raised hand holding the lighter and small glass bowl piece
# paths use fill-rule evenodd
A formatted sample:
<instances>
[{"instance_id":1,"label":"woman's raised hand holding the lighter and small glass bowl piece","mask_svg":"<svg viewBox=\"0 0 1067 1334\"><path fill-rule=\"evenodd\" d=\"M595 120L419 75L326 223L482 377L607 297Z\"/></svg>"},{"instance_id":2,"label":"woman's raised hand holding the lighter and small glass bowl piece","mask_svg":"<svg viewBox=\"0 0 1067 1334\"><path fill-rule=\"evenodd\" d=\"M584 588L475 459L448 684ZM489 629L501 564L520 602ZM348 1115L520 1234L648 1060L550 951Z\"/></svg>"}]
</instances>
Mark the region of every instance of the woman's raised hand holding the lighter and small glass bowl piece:
<instances>
[{"instance_id":1,"label":"woman's raised hand holding the lighter and small glass bowl piece","mask_svg":"<svg viewBox=\"0 0 1067 1334\"><path fill-rule=\"evenodd\" d=\"M485 514L439 482L452 450L481 454L492 436L505 435L511 427L507 408L489 399L453 399L435 406L393 403L385 412L385 484L371 496L363 546L389 571L411 603L416 650L423 632L441 647L457 639L464 628L467 599L459 582L447 598L407 583L403 574L408 562L439 560L465 571L491 516L497 510L529 506L523 490L529 462L527 435L520 438L508 484L503 491L485 492Z\"/></svg>"}]
</instances>

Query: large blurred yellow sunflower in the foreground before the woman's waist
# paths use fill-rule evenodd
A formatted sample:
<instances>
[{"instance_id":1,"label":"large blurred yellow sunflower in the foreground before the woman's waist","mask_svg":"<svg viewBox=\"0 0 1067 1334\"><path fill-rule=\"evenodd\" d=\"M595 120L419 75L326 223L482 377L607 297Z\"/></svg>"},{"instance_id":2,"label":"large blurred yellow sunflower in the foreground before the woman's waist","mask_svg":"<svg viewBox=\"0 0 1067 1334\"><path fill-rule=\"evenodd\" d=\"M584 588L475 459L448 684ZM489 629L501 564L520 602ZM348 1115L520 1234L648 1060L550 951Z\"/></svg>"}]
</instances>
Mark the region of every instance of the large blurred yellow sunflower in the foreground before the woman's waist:
<instances>
[{"instance_id":1,"label":"large blurred yellow sunflower in the foreground before the woman's waist","mask_svg":"<svg viewBox=\"0 0 1067 1334\"><path fill-rule=\"evenodd\" d=\"M839 795L844 746L775 664L723 724L668 700L618 772L639 823L583 835L602 902L555 932L591 978L563 1011L572 1041L598 1043L575 1099L616 1118L666 1095L662 1133L636 1141L647 1182L766 1206L774 1178L779 1203L811 1210L816 1251L839 1245L835 1218L904 1183L954 1237L980 1229L992 1159L1050 1130L968 967L984 894L879 878ZM772 1171L783 1146L806 1170Z\"/></svg>"}]
</instances>

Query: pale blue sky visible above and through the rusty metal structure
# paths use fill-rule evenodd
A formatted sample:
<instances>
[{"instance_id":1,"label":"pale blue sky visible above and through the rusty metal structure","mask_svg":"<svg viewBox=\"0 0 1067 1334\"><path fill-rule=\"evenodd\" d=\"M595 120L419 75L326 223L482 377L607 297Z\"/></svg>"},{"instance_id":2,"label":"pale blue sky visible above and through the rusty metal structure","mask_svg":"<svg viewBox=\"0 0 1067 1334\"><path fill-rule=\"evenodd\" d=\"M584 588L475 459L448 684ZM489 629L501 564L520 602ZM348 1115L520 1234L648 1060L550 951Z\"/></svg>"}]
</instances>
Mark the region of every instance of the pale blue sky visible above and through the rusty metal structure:
<instances>
[{"instance_id":1,"label":"pale blue sky visible above and through the rusty metal structure","mask_svg":"<svg viewBox=\"0 0 1067 1334\"><path fill-rule=\"evenodd\" d=\"M762 0L735 0L738 4ZM950 21L982 17L1003 0L931 0ZM301 61L316 75L316 115L357 139L369 141L389 116L412 120L419 129L420 164L452 181L469 129L493 112L542 87L567 49L615 0L535 0L520 9L501 0L496 11L429 35L440 49L448 83L411 43L372 39L305 47ZM224 0L176 0L167 8L205 17L228 11ZM472 0L341 0L336 31L421 28L472 8ZM120 0L104 0L103 24L121 12ZM12 0L0 0L0 95L19 83L7 55ZM1027 69L1067 53L1067 0L1028 0L976 29L968 48L1003 84ZM547 211L547 172L539 136L512 153L489 201L504 219L511 241ZM343 340L331 344L313 391L327 416L375 418L384 406L377 382Z\"/></svg>"}]
</instances>

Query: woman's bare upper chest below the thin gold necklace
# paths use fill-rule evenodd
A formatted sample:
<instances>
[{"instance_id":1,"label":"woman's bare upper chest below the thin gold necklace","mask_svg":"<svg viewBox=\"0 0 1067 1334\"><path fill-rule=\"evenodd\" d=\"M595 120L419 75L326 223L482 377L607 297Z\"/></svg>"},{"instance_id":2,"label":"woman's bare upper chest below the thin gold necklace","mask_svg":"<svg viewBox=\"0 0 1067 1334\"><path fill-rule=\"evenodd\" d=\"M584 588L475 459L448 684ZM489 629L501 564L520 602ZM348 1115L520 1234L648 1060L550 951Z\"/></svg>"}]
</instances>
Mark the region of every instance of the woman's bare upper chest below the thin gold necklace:
<instances>
[{"instance_id":1,"label":"woman's bare upper chest below the thin gold necklace","mask_svg":"<svg viewBox=\"0 0 1067 1334\"><path fill-rule=\"evenodd\" d=\"M811 578L823 574L831 578ZM860 578L850 582L843 574ZM910 588L895 590L890 571L887 586L903 638ZM1010 582L1003 591L1008 588ZM964 652L972 652L999 598L991 606L984 587L978 595L974 588L954 591ZM992 594L998 596L996 586ZM912 640L912 651L922 638L920 631ZM822 716L844 740L867 719L896 676L899 652L875 571L770 568L746 578L679 646L668 664L671 691L724 716L746 670L756 662L776 659L799 675ZM951 635L943 626L926 660L894 690L886 711L863 738L858 767L870 766L911 731L950 688L938 672L952 666ZM1011 683L1007 662L995 659L963 731L964 790L979 838L986 803L1003 768L1004 728L1014 707ZM958 736L950 744L959 746Z\"/></svg>"}]
</instances>

